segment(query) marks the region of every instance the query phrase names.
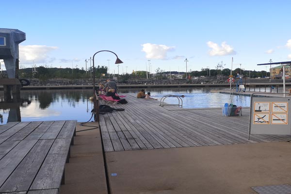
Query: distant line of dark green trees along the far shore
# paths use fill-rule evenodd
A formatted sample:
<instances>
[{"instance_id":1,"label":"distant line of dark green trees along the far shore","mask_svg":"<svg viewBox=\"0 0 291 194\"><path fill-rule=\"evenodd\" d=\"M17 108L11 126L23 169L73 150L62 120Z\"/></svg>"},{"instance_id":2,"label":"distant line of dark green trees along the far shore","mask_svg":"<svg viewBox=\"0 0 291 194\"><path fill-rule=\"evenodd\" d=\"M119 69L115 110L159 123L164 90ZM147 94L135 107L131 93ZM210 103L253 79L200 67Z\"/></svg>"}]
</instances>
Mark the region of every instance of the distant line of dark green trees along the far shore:
<instances>
[{"instance_id":1,"label":"distant line of dark green trees along the far shore","mask_svg":"<svg viewBox=\"0 0 291 194\"><path fill-rule=\"evenodd\" d=\"M146 75L147 74L147 75ZM266 71L250 71L236 68L232 70L233 77L236 77L237 74L243 74L244 77L249 78L258 78L258 77L269 77L270 72ZM210 77L223 77L229 76L230 69L202 69L201 71L192 71L188 73L190 77L200 77L200 76L210 76ZM44 67L39 66L36 68L21 68L18 72L19 78L25 79L40 79L40 80L49 80L56 78L65 78L65 79L90 79L93 78L93 68L88 68L87 71L83 68L57 68L57 67ZM155 73L149 74L146 71L134 71L131 74L123 73L122 75L113 75L108 74L107 66L97 66L95 67L95 77L97 79L106 79L118 77L120 80L129 80L129 79L156 79L164 80L169 78L186 78L185 72L178 71L163 71L160 68L155 70Z\"/></svg>"}]
</instances>

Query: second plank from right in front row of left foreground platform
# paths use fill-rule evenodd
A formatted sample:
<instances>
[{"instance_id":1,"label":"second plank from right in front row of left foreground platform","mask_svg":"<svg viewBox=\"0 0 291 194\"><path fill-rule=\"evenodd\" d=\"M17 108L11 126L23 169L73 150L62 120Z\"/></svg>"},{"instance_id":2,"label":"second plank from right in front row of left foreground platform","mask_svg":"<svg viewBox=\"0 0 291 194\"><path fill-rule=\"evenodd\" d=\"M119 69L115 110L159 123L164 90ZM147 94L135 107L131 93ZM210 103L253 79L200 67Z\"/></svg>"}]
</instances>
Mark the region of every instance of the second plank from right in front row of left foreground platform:
<instances>
[{"instance_id":1,"label":"second plank from right in front row of left foreground platform","mask_svg":"<svg viewBox=\"0 0 291 194\"><path fill-rule=\"evenodd\" d=\"M0 192L28 191L53 142L39 140L0 187Z\"/></svg>"}]
</instances>

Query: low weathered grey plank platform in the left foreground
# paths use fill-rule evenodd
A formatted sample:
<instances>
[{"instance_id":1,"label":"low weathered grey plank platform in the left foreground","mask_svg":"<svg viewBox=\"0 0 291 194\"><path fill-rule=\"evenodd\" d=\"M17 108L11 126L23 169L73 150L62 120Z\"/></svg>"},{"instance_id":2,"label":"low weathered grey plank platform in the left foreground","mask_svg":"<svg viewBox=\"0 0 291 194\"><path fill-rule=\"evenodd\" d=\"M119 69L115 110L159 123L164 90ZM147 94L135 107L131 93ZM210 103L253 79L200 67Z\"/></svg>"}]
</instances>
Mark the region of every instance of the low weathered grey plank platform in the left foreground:
<instances>
[{"instance_id":1,"label":"low weathered grey plank platform in the left foreground","mask_svg":"<svg viewBox=\"0 0 291 194\"><path fill-rule=\"evenodd\" d=\"M76 135L76 120L0 126L0 194L57 194Z\"/></svg>"}]
</instances>

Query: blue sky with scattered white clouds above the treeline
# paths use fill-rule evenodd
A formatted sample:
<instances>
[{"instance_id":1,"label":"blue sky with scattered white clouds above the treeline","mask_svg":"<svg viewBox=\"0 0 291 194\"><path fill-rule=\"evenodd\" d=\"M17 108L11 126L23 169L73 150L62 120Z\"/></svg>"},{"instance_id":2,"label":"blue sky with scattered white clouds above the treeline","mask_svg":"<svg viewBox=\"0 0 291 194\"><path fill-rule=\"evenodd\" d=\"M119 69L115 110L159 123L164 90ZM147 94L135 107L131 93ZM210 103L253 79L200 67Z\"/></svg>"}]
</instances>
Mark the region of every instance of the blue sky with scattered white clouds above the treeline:
<instances>
[{"instance_id":1,"label":"blue sky with scattered white clouds above the treeline","mask_svg":"<svg viewBox=\"0 0 291 194\"><path fill-rule=\"evenodd\" d=\"M0 28L26 33L20 68L85 69L110 50L119 68L107 51L94 64L115 74L185 72L186 58L188 72L221 62L269 71L257 64L291 61L290 7L289 0L5 0Z\"/></svg>"}]
</instances>

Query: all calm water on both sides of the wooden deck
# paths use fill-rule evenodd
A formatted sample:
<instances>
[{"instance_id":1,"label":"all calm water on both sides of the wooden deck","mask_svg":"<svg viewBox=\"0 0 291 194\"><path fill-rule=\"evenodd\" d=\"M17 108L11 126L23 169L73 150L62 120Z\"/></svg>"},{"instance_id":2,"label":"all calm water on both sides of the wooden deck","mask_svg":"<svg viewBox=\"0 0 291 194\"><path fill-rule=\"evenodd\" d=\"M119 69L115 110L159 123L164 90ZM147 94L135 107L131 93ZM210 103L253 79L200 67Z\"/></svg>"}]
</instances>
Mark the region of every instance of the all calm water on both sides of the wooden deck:
<instances>
[{"instance_id":1,"label":"all calm water on both sides of the wooden deck","mask_svg":"<svg viewBox=\"0 0 291 194\"><path fill-rule=\"evenodd\" d=\"M215 89L215 88L211 88ZM218 88L216 88L218 89ZM122 93L137 93L140 89L120 90ZM151 89L151 96L185 95L183 108L223 107L233 103L237 106L250 106L248 96L230 96L210 93L210 88ZM135 94L134 94L135 95ZM92 121L93 103L89 100L92 90L29 90L21 91L22 103L0 103L0 124L12 121L78 120ZM0 92L3 99L3 92ZM177 98L168 97L164 102L177 104ZM129 102L130 103L130 102Z\"/></svg>"}]
</instances>

